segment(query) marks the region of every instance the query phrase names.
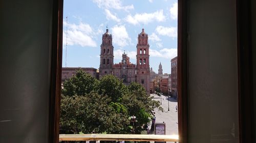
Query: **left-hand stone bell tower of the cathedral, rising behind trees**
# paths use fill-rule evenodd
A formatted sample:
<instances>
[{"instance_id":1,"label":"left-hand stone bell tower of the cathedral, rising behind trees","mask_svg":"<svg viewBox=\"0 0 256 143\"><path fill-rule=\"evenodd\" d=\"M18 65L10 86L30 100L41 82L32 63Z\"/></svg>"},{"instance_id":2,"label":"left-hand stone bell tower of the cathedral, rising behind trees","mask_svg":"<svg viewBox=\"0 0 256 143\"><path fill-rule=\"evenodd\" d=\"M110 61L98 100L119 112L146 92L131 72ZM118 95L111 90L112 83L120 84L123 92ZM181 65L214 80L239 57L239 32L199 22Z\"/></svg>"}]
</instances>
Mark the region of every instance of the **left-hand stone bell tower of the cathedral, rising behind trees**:
<instances>
[{"instance_id":1,"label":"left-hand stone bell tower of the cathedral, rising behind trees","mask_svg":"<svg viewBox=\"0 0 256 143\"><path fill-rule=\"evenodd\" d=\"M99 77L112 74L114 64L113 50L112 35L109 33L109 30L106 29L106 32L102 35L102 43L100 45Z\"/></svg>"}]
</instances>

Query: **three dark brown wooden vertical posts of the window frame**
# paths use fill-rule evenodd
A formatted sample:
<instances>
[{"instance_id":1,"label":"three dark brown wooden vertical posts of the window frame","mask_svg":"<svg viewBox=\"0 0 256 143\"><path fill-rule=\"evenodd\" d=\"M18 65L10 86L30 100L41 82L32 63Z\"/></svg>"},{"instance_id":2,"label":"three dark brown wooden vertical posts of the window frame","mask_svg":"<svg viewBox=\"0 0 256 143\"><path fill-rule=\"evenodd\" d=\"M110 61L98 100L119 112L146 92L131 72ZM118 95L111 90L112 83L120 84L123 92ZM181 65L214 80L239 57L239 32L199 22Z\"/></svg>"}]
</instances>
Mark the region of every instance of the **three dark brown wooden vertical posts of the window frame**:
<instances>
[{"instance_id":1,"label":"three dark brown wooden vertical posts of the window frame","mask_svg":"<svg viewBox=\"0 0 256 143\"><path fill-rule=\"evenodd\" d=\"M250 4L237 2L239 132L240 142L253 142L253 89ZM178 0L178 132L179 142L188 142L188 47L187 0ZM53 1L51 87L49 102L49 142L59 142L60 92L62 70L63 0Z\"/></svg>"}]
</instances>

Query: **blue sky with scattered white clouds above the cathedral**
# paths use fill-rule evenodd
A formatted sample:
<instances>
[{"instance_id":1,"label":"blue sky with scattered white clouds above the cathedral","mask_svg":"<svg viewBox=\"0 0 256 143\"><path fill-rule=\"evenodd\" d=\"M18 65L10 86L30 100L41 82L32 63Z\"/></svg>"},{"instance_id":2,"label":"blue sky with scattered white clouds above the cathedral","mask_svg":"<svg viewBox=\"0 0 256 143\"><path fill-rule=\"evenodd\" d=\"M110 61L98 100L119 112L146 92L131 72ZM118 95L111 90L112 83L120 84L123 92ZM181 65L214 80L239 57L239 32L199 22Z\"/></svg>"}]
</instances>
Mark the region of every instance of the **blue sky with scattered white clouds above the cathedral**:
<instances>
[{"instance_id":1,"label":"blue sky with scattered white clouds above the cathedral","mask_svg":"<svg viewBox=\"0 0 256 143\"><path fill-rule=\"evenodd\" d=\"M98 69L108 26L114 63L121 61L124 50L136 63L137 38L144 28L150 67L157 73L161 62L163 73L170 73L170 60L177 56L177 15L177 0L64 0L62 67Z\"/></svg>"}]
</instances>

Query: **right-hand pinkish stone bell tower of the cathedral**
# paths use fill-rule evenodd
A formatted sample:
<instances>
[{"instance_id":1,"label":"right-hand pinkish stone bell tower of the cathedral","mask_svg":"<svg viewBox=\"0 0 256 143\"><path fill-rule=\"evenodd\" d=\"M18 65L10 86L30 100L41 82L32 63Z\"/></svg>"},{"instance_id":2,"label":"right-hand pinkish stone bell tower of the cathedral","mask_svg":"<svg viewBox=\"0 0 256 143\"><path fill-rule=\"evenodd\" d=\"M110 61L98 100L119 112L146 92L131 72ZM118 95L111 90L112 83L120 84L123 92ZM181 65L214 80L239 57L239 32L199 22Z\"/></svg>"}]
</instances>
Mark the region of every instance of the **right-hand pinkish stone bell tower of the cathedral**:
<instances>
[{"instance_id":1,"label":"right-hand pinkish stone bell tower of the cathedral","mask_svg":"<svg viewBox=\"0 0 256 143\"><path fill-rule=\"evenodd\" d=\"M150 45L148 44L148 36L142 28L142 32L138 35L137 43L137 65L136 65L136 81L143 85L147 94L150 94Z\"/></svg>"}]
</instances>

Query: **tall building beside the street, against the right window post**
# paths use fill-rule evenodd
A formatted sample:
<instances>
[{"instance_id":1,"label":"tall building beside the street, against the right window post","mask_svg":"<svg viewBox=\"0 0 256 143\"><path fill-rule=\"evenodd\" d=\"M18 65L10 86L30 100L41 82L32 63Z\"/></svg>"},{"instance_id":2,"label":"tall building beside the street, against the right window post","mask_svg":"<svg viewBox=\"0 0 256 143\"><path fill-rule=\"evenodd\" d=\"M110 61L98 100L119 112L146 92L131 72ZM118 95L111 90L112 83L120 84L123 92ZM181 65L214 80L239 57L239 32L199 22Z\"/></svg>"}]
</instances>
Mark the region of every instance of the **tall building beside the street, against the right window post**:
<instances>
[{"instance_id":1,"label":"tall building beside the street, against the right window post","mask_svg":"<svg viewBox=\"0 0 256 143\"><path fill-rule=\"evenodd\" d=\"M177 84L177 56L171 60L170 62L170 66L171 66L171 70L172 70L172 93L171 95L175 98L177 98L177 87L178 87L178 84Z\"/></svg>"}]
</instances>

